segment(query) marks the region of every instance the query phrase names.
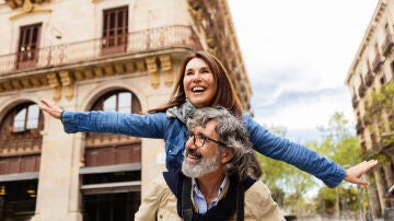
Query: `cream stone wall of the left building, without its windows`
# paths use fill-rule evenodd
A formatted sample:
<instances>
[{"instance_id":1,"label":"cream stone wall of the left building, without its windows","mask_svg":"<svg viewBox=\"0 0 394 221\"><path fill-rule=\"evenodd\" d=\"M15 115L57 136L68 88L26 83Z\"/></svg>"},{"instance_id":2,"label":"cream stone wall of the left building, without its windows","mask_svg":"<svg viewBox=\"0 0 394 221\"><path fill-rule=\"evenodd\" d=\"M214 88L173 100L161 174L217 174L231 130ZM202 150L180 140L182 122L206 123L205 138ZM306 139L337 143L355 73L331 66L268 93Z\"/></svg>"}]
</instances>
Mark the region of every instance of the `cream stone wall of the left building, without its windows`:
<instances>
[{"instance_id":1,"label":"cream stone wall of the left building, without its windows","mask_svg":"<svg viewBox=\"0 0 394 221\"><path fill-rule=\"evenodd\" d=\"M97 48L103 10L124 5L128 7L128 32L136 33L130 35L131 40L139 40L137 46L130 44L128 47L139 49L128 53L127 48L121 55L100 57ZM213 21L207 25L207 21L213 18L210 15L212 9L215 18L221 21L220 27ZM100 96L116 89L136 94L142 112L147 112L167 101L179 63L193 49L206 49L223 60L245 111L250 111L252 90L224 0L215 3L185 0L2 0L0 23L0 120L16 104L24 101L38 104L40 97L53 100L69 111L89 111ZM38 61L32 68L15 70L20 27L35 23L42 23ZM174 25L187 28L172 27ZM169 47L158 46L154 40L161 38L152 37L153 42L149 44L157 46L148 48L147 30L154 33L154 30L159 32L169 26L171 36L165 36ZM181 45L170 43L184 35L190 38ZM141 39L136 39L138 37ZM220 44L229 47L221 48ZM61 123L48 115L44 115L40 135L38 188L32 219L82 220L80 170L83 168L85 135L67 135ZM141 141L142 196L150 182L165 170L163 144L162 140ZM0 154L1 158L7 156ZM20 177L21 174L3 177L12 179L13 175Z\"/></svg>"}]
</instances>

